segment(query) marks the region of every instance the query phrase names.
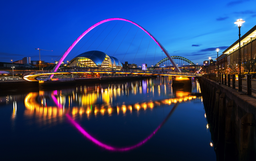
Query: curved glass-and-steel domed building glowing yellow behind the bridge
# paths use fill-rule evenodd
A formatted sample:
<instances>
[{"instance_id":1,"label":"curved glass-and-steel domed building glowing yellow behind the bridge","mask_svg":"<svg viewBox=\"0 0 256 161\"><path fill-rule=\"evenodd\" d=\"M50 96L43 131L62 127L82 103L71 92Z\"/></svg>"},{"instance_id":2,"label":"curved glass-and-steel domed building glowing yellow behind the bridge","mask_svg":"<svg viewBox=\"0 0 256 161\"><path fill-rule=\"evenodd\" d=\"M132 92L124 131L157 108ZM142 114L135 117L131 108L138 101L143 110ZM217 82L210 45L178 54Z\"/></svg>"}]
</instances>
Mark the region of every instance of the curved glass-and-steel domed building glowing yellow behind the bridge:
<instances>
[{"instance_id":1,"label":"curved glass-and-steel domed building glowing yellow behind the bridge","mask_svg":"<svg viewBox=\"0 0 256 161\"><path fill-rule=\"evenodd\" d=\"M122 63L117 58L97 50L87 51L76 56L71 61L69 61L66 66L116 70L121 70L123 68Z\"/></svg>"}]
</instances>

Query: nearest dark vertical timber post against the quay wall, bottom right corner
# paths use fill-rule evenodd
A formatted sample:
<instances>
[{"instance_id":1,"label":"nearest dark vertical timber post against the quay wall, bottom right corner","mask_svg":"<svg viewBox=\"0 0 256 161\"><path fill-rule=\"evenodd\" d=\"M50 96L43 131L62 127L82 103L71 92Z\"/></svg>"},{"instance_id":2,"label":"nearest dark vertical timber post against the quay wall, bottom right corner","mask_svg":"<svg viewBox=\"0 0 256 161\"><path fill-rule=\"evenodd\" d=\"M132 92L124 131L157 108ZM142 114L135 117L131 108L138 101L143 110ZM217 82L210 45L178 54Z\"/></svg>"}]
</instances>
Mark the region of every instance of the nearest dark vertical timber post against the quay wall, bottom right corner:
<instances>
[{"instance_id":1,"label":"nearest dark vertical timber post against the quay wall, bottom right corner","mask_svg":"<svg viewBox=\"0 0 256 161\"><path fill-rule=\"evenodd\" d=\"M247 113L241 118L239 160L255 161L254 156L254 115Z\"/></svg>"}]
</instances>

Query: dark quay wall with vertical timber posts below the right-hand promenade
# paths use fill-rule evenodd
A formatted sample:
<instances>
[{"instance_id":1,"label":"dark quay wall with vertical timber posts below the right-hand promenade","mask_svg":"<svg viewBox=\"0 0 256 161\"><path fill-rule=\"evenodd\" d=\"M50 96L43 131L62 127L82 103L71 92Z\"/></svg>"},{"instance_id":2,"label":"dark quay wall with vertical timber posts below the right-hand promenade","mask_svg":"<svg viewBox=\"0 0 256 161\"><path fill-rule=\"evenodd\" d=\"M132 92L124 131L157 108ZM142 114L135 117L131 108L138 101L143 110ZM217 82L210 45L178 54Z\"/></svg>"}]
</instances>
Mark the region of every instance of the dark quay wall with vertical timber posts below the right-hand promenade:
<instances>
[{"instance_id":1,"label":"dark quay wall with vertical timber posts below the right-hand promenade","mask_svg":"<svg viewBox=\"0 0 256 161\"><path fill-rule=\"evenodd\" d=\"M217 160L255 160L256 96L204 77L200 87Z\"/></svg>"}]
</instances>

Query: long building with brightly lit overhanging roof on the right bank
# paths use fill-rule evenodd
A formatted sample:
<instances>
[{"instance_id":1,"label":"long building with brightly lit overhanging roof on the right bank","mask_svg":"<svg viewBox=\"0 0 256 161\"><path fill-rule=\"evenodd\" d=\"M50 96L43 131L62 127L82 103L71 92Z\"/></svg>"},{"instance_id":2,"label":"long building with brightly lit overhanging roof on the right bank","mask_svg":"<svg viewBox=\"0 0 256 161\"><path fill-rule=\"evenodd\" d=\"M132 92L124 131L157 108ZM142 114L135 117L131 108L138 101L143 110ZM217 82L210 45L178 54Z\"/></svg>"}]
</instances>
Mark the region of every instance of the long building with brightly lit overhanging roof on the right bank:
<instances>
[{"instance_id":1,"label":"long building with brightly lit overhanging roof on the right bank","mask_svg":"<svg viewBox=\"0 0 256 161\"><path fill-rule=\"evenodd\" d=\"M230 67L235 71L239 66L239 40L228 47L218 57L218 68ZM256 25L241 37L241 65L255 62L256 58ZM217 63L216 63L217 64ZM252 69L255 71L256 69Z\"/></svg>"}]
</instances>

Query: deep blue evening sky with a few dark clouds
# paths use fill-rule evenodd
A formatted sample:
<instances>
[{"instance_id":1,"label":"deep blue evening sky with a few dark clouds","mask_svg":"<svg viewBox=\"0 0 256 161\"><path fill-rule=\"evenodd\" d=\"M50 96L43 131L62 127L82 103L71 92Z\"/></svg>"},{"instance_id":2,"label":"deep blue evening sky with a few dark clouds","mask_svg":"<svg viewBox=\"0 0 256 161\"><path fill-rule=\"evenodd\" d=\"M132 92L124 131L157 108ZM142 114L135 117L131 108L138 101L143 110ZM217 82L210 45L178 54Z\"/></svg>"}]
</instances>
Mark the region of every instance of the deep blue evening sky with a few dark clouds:
<instances>
[{"instance_id":1,"label":"deep blue evening sky with a few dark clouds","mask_svg":"<svg viewBox=\"0 0 256 161\"><path fill-rule=\"evenodd\" d=\"M23 57L39 60L35 48L53 50L41 51L41 60L58 61L90 26L108 18L124 18L147 29L171 56L203 64L209 56L216 58L216 48L221 54L238 39L237 19L245 21L241 35L256 25L255 6L255 0L2 1L0 62ZM106 52L122 63L148 66L166 57L148 35L124 21L103 23L82 40L65 61L89 50Z\"/></svg>"}]
</instances>

